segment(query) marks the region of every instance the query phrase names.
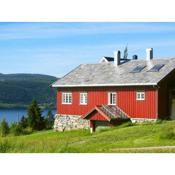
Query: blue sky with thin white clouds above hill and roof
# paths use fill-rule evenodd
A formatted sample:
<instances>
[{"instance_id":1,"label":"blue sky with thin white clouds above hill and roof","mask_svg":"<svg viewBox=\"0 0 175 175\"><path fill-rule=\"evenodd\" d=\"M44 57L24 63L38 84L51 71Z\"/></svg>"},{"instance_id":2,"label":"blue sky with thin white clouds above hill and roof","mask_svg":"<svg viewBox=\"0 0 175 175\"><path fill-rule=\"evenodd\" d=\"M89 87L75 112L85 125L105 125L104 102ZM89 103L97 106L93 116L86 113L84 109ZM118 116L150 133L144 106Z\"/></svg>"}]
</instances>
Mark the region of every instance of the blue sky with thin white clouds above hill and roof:
<instances>
[{"instance_id":1,"label":"blue sky with thin white clouds above hill and roof","mask_svg":"<svg viewBox=\"0 0 175 175\"><path fill-rule=\"evenodd\" d=\"M175 57L175 23L0 23L0 73L61 77L126 44L129 57Z\"/></svg>"}]
</instances>

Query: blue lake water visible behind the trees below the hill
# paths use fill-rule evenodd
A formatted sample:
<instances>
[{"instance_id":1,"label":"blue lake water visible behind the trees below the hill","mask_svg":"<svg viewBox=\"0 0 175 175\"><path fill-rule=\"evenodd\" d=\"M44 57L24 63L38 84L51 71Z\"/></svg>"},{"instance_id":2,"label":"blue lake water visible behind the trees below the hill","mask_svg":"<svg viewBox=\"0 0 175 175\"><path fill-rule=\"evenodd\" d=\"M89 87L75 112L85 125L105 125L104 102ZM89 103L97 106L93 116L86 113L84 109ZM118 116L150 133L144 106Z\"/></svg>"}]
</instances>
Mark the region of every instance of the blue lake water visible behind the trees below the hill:
<instances>
[{"instance_id":1,"label":"blue lake water visible behind the trees below the hill","mask_svg":"<svg viewBox=\"0 0 175 175\"><path fill-rule=\"evenodd\" d=\"M42 115L45 116L47 115L48 110L43 110ZM55 115L56 110L52 110L52 114ZM22 116L27 115L27 110L26 109L0 109L0 120L3 118L6 119L7 122L11 123L14 121L19 121Z\"/></svg>"}]
</instances>

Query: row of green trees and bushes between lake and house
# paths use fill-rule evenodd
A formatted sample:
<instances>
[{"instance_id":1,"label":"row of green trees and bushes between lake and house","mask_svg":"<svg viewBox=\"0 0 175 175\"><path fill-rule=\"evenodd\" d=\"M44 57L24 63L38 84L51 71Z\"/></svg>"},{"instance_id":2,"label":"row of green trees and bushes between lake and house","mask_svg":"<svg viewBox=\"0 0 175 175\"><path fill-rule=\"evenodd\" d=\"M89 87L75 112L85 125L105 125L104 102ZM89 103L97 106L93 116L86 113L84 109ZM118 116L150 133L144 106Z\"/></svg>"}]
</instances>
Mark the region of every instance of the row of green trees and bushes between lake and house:
<instances>
[{"instance_id":1,"label":"row of green trees and bushes between lake and house","mask_svg":"<svg viewBox=\"0 0 175 175\"><path fill-rule=\"evenodd\" d=\"M10 125L3 119L0 122L0 135L6 136L9 132L15 136L30 134L33 131L52 129L54 124L54 115L49 110L47 116L41 115L41 109L36 100L28 106L27 117L22 116L19 122L13 122Z\"/></svg>"}]
</instances>

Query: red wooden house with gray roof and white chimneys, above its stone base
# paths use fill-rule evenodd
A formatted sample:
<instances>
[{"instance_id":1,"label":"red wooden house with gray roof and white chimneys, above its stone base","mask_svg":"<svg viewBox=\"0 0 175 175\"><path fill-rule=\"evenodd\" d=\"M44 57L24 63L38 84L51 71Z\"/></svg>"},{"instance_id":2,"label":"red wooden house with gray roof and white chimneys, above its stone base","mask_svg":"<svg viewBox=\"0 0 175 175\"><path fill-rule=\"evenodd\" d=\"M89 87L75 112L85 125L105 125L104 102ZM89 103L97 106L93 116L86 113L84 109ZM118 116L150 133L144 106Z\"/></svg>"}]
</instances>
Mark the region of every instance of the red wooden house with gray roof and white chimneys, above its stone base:
<instances>
[{"instance_id":1,"label":"red wooden house with gray roof and white chimneys, above its stone base","mask_svg":"<svg viewBox=\"0 0 175 175\"><path fill-rule=\"evenodd\" d=\"M110 58L108 60L108 58ZM52 84L57 88L59 116L77 116L90 127L122 120L175 118L175 58L103 57L97 64L82 64Z\"/></svg>"}]
</instances>

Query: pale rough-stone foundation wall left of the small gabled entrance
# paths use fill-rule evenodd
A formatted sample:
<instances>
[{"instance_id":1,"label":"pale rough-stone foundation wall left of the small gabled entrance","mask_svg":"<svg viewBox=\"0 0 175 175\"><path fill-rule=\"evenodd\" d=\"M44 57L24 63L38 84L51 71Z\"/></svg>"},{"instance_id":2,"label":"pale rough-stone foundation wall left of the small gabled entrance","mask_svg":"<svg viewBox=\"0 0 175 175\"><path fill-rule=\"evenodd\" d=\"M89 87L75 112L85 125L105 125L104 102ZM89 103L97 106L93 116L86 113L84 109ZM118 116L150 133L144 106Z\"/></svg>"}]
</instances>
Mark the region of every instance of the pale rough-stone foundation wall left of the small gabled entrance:
<instances>
[{"instance_id":1,"label":"pale rough-stone foundation wall left of the small gabled entrance","mask_svg":"<svg viewBox=\"0 0 175 175\"><path fill-rule=\"evenodd\" d=\"M89 121L78 115L55 115L54 130L65 131L75 129L88 129Z\"/></svg>"}]
</instances>

